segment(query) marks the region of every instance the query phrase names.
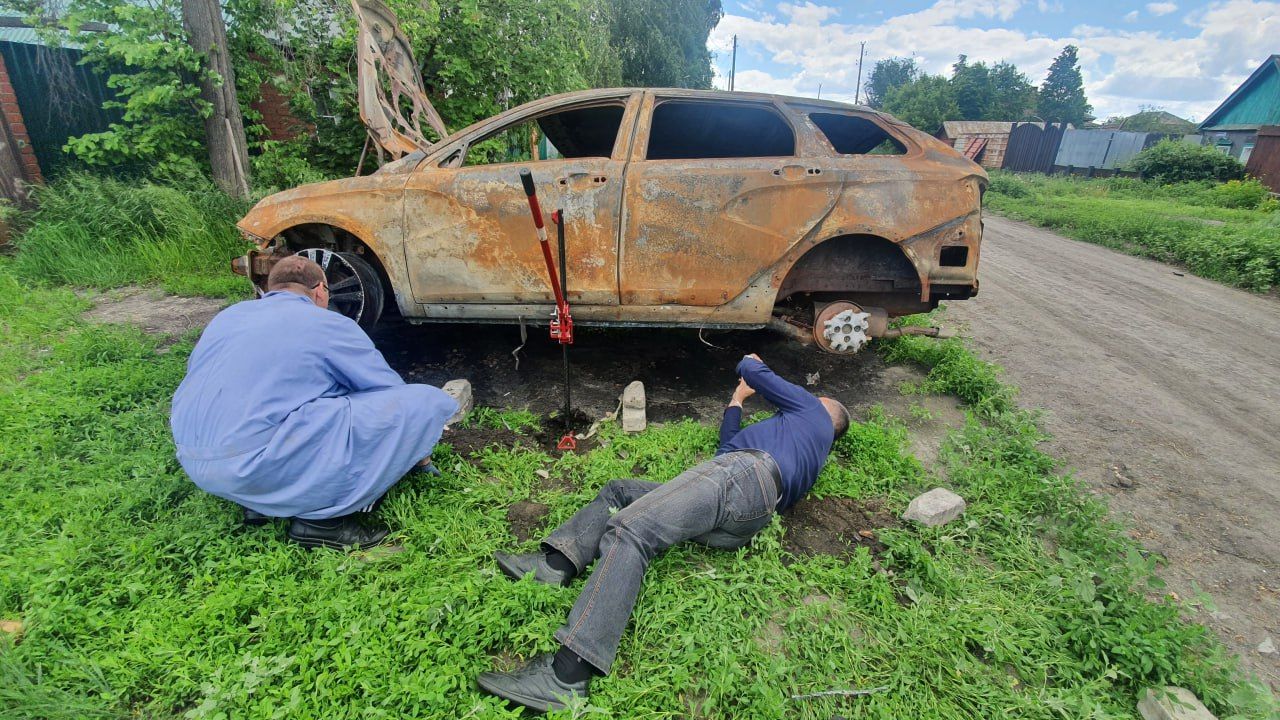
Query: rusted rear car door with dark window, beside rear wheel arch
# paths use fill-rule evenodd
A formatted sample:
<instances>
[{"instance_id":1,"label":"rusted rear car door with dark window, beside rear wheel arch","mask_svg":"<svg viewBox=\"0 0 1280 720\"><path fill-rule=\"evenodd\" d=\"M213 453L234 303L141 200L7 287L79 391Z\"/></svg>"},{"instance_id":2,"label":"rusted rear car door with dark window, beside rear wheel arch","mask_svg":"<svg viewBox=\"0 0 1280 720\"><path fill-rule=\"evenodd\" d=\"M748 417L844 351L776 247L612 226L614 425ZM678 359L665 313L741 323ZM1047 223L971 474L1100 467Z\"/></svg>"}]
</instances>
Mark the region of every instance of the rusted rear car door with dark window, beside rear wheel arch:
<instances>
[{"instance_id":1,"label":"rusted rear car door with dark window, beside rear wheel arch","mask_svg":"<svg viewBox=\"0 0 1280 720\"><path fill-rule=\"evenodd\" d=\"M623 305L727 302L840 196L767 100L646 94L627 168Z\"/></svg>"}]
</instances>

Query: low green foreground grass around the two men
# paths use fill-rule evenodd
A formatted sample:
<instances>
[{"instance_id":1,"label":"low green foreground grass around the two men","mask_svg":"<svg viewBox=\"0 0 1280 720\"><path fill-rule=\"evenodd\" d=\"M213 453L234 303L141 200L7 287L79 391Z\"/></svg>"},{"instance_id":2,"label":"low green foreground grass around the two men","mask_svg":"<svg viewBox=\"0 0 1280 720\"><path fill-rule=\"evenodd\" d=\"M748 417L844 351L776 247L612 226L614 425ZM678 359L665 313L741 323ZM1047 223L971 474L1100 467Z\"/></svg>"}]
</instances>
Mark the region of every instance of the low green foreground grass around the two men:
<instances>
[{"instance_id":1,"label":"low green foreground grass around the two men","mask_svg":"<svg viewBox=\"0 0 1280 720\"><path fill-rule=\"evenodd\" d=\"M442 447L443 475L407 479L381 510L403 552L303 551L279 527L239 527L175 462L166 407L191 338L159 348L86 324L84 300L19 266L0 260L0 619L26 624L20 643L0 639L4 717L517 717L474 678L552 650L581 583L495 571L489 553L517 544L507 507L547 503L554 524L612 478L666 480L714 448L714 428L689 421L639 436L607 424L602 447L562 457ZM1275 712L1161 598L1153 560L1056 473L993 366L955 341L884 352L931 369L915 392L972 407L943 451L965 515L884 530L878 560L790 557L777 521L736 553L672 550L577 715L1132 719L1137 691L1164 683L1220 717ZM538 428L518 411L472 423ZM872 413L815 495L900 512L938 482L906 447L902 421Z\"/></svg>"}]
</instances>

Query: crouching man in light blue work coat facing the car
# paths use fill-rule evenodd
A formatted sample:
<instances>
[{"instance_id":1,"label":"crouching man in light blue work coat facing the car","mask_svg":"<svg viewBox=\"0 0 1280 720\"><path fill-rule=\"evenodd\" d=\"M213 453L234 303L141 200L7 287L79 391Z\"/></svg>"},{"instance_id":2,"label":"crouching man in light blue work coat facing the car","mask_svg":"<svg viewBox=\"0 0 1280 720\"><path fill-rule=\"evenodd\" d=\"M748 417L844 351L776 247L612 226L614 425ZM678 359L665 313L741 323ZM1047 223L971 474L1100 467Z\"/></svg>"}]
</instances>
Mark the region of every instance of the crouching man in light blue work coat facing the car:
<instances>
[{"instance_id":1,"label":"crouching man in light blue work coat facing the car","mask_svg":"<svg viewBox=\"0 0 1280 720\"><path fill-rule=\"evenodd\" d=\"M371 547L369 510L428 464L457 402L404 384L360 325L330 313L324 270L278 261L260 300L218 314L173 397L178 460L202 489L244 507L246 523L292 518L307 547Z\"/></svg>"}]
</instances>

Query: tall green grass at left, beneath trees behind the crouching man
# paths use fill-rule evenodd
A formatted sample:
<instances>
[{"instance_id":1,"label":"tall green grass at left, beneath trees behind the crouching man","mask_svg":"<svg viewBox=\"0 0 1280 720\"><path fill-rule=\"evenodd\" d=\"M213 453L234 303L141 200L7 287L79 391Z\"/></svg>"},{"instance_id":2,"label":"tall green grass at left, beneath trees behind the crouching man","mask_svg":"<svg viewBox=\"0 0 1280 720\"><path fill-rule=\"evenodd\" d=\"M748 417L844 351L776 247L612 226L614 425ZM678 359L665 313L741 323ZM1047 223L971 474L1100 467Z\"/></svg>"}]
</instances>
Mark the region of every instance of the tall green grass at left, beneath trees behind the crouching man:
<instances>
[{"instance_id":1,"label":"tall green grass at left, beneath trees behind the crouching man","mask_svg":"<svg viewBox=\"0 0 1280 720\"><path fill-rule=\"evenodd\" d=\"M179 295L244 297L230 272L247 245L236 222L248 210L211 183L174 187L68 174L35 192L19 215L15 272L79 287L157 284Z\"/></svg>"}]
</instances>

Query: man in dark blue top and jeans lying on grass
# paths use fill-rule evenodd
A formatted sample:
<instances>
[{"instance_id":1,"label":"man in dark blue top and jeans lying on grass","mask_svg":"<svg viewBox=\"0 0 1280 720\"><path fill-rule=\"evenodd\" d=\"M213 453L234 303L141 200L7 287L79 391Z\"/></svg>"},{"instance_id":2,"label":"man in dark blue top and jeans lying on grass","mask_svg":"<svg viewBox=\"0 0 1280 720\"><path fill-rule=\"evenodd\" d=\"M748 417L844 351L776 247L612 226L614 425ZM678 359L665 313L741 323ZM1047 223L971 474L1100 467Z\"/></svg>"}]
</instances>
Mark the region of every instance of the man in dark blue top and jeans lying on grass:
<instances>
[{"instance_id":1,"label":"man in dark blue top and jeans lying on grass","mask_svg":"<svg viewBox=\"0 0 1280 720\"><path fill-rule=\"evenodd\" d=\"M598 562L568 621L556 632L561 650L512 673L485 673L481 688L543 711L585 697L591 676L608 674L613 665L645 568L658 552L689 539L737 550L774 512L809 492L832 443L849 429L849 410L783 380L758 355L744 357L737 373L716 457L664 484L612 480L543 541L541 552L494 553L508 577L532 574L556 585L570 584ZM742 401L756 391L778 411L742 428Z\"/></svg>"}]
</instances>

